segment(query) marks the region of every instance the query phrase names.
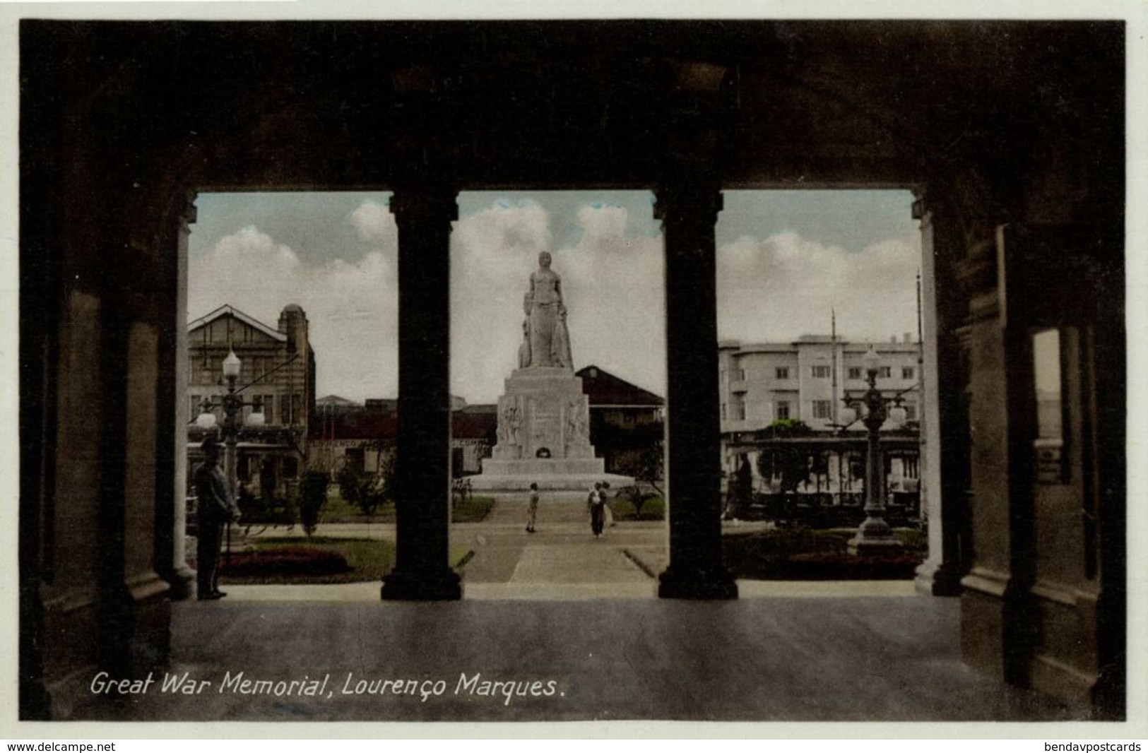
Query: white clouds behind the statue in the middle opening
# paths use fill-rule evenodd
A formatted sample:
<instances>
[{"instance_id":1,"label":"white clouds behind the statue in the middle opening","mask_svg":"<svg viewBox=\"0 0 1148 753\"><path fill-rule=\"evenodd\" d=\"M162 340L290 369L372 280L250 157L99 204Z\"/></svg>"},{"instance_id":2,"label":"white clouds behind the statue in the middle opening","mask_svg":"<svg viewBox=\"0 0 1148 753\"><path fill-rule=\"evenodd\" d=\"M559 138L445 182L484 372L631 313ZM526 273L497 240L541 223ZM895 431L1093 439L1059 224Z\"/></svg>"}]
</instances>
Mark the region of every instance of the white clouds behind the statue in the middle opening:
<instances>
[{"instance_id":1,"label":"white clouds behind the statue in the middle opening","mask_svg":"<svg viewBox=\"0 0 1148 753\"><path fill-rule=\"evenodd\" d=\"M540 251L553 256L569 311L575 368L591 363L665 390L661 240L627 234L627 212L585 207L581 240L552 249L549 212L498 204L463 218L453 233L452 390L494 401L517 366L522 296Z\"/></svg>"}]
</instances>

